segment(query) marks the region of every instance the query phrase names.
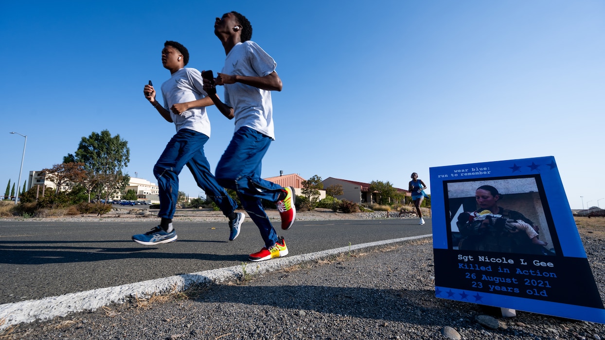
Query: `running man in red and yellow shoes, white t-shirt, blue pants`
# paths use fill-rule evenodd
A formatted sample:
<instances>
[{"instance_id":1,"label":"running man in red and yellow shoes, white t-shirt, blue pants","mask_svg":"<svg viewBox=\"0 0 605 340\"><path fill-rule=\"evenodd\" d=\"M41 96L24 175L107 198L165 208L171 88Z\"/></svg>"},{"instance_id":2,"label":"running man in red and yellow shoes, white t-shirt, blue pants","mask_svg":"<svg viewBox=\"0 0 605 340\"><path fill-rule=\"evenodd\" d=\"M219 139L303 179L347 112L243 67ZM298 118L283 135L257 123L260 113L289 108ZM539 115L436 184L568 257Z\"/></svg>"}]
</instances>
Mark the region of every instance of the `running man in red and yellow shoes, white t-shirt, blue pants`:
<instances>
[{"instance_id":1,"label":"running man in red and yellow shoes, white t-shirt, blue pants","mask_svg":"<svg viewBox=\"0 0 605 340\"><path fill-rule=\"evenodd\" d=\"M223 43L227 57L214 83L204 79L204 90L225 117L235 118L234 136L217 165L217 181L237 191L263 237L263 248L248 259L263 261L285 256L286 242L277 236L261 204L261 199L276 202L282 229L289 229L294 223L294 188L282 188L261 178L263 156L275 140L270 91L281 91L281 79L275 72L277 64L250 41L252 25L240 13L232 11L217 18L214 34ZM215 85L224 86L224 103L217 97Z\"/></svg>"}]
</instances>

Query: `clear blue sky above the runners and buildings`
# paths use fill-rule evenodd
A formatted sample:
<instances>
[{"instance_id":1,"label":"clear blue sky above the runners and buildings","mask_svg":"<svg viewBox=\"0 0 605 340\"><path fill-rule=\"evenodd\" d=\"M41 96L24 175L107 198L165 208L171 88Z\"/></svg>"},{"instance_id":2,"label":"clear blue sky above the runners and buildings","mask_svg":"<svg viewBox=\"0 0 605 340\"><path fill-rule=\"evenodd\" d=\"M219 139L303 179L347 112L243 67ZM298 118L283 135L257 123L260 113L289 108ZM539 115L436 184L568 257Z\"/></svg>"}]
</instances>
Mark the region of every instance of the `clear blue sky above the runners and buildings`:
<instances>
[{"instance_id":1,"label":"clear blue sky above the runners and buildings","mask_svg":"<svg viewBox=\"0 0 605 340\"><path fill-rule=\"evenodd\" d=\"M126 172L156 182L175 130L142 88L168 79L166 40L189 49L188 67L220 71L214 18L232 10L252 22L284 84L263 177L407 188L412 172L430 185L430 167L555 156L572 208L605 197L597 0L3 1L2 193L21 165L24 138L11 131L28 136L21 185L104 129L128 141ZM234 126L208 113L214 168ZM181 191L203 196L187 169L180 178Z\"/></svg>"}]
</instances>

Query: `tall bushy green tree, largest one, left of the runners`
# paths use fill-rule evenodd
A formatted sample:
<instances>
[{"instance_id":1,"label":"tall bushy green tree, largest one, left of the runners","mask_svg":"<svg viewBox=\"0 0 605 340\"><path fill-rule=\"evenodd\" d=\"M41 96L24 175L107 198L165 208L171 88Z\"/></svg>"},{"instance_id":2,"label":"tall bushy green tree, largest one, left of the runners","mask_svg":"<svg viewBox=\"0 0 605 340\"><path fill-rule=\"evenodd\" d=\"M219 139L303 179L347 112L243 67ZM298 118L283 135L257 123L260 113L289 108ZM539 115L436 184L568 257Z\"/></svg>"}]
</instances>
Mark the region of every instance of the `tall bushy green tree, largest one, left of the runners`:
<instances>
[{"instance_id":1,"label":"tall bushy green tree, largest one, left of the runners","mask_svg":"<svg viewBox=\"0 0 605 340\"><path fill-rule=\"evenodd\" d=\"M93 191L97 198L101 194L108 199L114 192L123 190L130 177L123 175L122 169L130 161L128 142L120 135L111 136L108 130L93 132L88 138L82 137L76 152L64 157L64 163L81 162L84 169L94 176L97 185ZM89 177L90 179L90 177Z\"/></svg>"}]
</instances>

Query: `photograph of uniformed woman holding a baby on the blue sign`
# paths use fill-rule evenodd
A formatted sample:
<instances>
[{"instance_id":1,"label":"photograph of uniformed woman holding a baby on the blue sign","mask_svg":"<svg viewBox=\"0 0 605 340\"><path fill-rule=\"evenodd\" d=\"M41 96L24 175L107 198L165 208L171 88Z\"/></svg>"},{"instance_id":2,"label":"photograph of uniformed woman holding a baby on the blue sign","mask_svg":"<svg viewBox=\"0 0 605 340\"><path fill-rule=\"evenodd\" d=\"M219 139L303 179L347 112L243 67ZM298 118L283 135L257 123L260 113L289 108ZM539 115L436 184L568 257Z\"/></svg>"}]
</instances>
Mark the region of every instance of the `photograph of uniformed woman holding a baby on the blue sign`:
<instances>
[{"instance_id":1,"label":"photograph of uniformed woman holding a baby on the blue sign","mask_svg":"<svg viewBox=\"0 0 605 340\"><path fill-rule=\"evenodd\" d=\"M539 176L445 181L450 249L555 255Z\"/></svg>"}]
</instances>

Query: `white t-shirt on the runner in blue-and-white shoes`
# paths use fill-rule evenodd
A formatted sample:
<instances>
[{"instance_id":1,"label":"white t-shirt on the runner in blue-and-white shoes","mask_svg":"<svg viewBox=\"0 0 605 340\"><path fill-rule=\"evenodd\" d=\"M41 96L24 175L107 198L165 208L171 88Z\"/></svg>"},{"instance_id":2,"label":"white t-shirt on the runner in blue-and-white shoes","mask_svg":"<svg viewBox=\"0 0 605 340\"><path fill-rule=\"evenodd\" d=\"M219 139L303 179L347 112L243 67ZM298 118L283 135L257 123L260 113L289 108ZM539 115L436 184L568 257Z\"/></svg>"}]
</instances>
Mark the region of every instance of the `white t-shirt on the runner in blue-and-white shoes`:
<instances>
[{"instance_id":1,"label":"white t-shirt on the runner in blue-and-white shoes","mask_svg":"<svg viewBox=\"0 0 605 340\"><path fill-rule=\"evenodd\" d=\"M187 103L206 97L208 94L204 92L203 84L200 71L195 68L181 68L162 84L164 108L170 112L177 131L191 129L210 136L210 120L206 114L206 107L195 107L180 115L170 111L173 104Z\"/></svg>"}]
</instances>

